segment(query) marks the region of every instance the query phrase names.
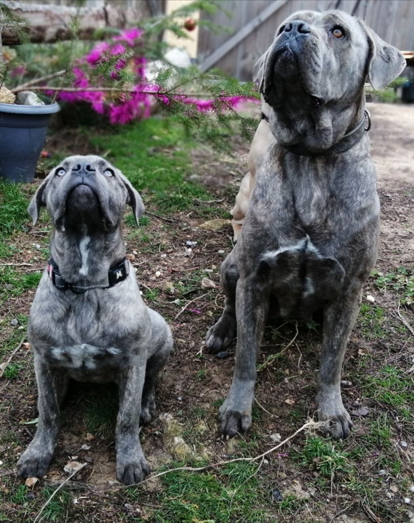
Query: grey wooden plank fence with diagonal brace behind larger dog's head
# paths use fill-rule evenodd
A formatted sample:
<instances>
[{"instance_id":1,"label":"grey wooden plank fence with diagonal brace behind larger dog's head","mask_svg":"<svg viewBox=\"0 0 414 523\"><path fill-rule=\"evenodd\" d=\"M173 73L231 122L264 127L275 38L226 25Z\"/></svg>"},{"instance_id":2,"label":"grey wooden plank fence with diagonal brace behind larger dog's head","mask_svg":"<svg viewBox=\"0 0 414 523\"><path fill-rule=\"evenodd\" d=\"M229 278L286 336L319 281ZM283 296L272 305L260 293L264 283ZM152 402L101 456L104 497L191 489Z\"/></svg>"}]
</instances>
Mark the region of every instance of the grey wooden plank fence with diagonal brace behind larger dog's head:
<instances>
[{"instance_id":1,"label":"grey wooden plank fence with diagonal brace behind larger dog's head","mask_svg":"<svg viewBox=\"0 0 414 523\"><path fill-rule=\"evenodd\" d=\"M232 33L216 35L200 28L201 70L218 67L244 81L251 79L254 63L269 47L282 21L302 9L342 9L365 20L401 51L414 50L414 0L222 0L220 6L215 15L203 14L202 18L229 26Z\"/></svg>"}]
</instances>

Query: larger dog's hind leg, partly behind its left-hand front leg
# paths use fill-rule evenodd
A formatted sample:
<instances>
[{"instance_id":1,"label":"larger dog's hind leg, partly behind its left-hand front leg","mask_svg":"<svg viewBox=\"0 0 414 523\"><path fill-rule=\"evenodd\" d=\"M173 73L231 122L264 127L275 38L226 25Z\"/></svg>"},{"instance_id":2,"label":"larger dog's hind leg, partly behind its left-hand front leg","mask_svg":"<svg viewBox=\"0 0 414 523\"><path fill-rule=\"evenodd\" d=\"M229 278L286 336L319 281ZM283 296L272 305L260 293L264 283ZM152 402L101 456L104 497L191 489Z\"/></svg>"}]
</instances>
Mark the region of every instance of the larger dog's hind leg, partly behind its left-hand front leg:
<instances>
[{"instance_id":1,"label":"larger dog's hind leg, partly behind its left-hand front leg","mask_svg":"<svg viewBox=\"0 0 414 523\"><path fill-rule=\"evenodd\" d=\"M205 346L212 354L216 354L230 345L236 334L236 285L239 278L236 248L223 261L220 269L220 284L226 299L220 320L210 328L205 336Z\"/></svg>"}]
</instances>

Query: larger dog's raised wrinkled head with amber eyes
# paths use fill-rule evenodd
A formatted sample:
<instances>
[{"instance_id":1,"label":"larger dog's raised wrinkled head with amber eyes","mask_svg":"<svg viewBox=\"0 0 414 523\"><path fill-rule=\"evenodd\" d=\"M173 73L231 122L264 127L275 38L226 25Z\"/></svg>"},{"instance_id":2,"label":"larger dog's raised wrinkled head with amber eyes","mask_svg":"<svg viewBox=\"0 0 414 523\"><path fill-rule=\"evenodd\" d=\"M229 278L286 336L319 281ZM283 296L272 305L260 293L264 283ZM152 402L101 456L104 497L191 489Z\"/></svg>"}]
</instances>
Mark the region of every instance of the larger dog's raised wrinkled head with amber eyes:
<instances>
[{"instance_id":1,"label":"larger dog's raised wrinkled head with amber eyes","mask_svg":"<svg viewBox=\"0 0 414 523\"><path fill-rule=\"evenodd\" d=\"M301 11L280 26L254 79L279 115L276 138L323 149L361 116L365 79L379 89L404 67L401 53L358 18L338 10Z\"/></svg>"}]
</instances>

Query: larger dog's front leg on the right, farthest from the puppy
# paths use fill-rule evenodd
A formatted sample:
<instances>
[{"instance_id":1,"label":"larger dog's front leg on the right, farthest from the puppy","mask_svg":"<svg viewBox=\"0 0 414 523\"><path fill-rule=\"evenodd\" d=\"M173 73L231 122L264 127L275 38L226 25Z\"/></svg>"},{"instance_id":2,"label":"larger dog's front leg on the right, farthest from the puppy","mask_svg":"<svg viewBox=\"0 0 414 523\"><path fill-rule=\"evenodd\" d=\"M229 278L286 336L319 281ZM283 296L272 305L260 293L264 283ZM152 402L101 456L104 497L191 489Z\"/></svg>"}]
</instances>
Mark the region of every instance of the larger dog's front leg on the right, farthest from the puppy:
<instances>
[{"instance_id":1,"label":"larger dog's front leg on the right, farthest from the puppy","mask_svg":"<svg viewBox=\"0 0 414 523\"><path fill-rule=\"evenodd\" d=\"M324 310L316 405L319 420L327 422L325 430L336 439L347 438L353 426L342 403L341 370L349 335L358 316L361 292L361 289L354 289Z\"/></svg>"}]
</instances>

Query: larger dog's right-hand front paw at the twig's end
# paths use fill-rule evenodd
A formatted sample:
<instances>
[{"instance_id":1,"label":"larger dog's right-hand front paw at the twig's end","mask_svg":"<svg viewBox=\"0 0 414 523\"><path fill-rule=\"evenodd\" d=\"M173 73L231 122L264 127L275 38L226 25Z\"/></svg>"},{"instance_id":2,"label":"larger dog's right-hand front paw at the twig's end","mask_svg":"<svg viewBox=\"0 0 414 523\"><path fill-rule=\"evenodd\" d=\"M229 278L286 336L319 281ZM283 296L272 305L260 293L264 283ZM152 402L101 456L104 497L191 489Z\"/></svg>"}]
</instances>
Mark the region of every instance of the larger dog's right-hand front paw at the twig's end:
<instances>
[{"instance_id":1,"label":"larger dog's right-hand front paw at the twig's end","mask_svg":"<svg viewBox=\"0 0 414 523\"><path fill-rule=\"evenodd\" d=\"M353 423L351 416L343 406L340 395L324 397L319 394L316 399L318 419L324 422L321 427L324 434L334 439L346 439L351 434Z\"/></svg>"}]
</instances>

